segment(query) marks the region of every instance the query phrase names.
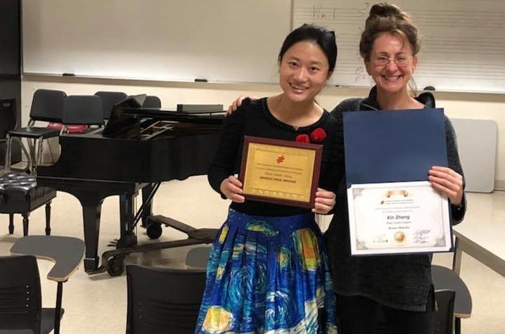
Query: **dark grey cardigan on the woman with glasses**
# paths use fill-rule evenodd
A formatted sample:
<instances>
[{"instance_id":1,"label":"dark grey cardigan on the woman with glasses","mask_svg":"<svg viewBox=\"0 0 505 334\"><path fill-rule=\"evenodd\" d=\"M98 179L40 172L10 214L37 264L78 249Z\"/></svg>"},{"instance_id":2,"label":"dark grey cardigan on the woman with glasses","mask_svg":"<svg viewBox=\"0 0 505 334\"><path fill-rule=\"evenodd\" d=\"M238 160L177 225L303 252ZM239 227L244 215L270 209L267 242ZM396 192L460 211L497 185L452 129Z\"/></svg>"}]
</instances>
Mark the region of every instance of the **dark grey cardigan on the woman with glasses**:
<instances>
[{"instance_id":1,"label":"dark grey cardigan on the woman with glasses","mask_svg":"<svg viewBox=\"0 0 505 334\"><path fill-rule=\"evenodd\" d=\"M435 98L424 93L416 98L425 108L435 108ZM331 114L342 122L344 111L380 110L375 87L368 98L342 101ZM342 123L340 123L342 124ZM449 118L445 117L447 162L450 168L463 175L456 146L456 136ZM428 171L426 171L428 172ZM464 218L466 199L461 207L451 205L452 224ZM335 214L325 233L331 257L335 293L346 296L361 295L395 309L426 311L431 282L430 255L350 256L350 236L347 212L345 177L340 181Z\"/></svg>"}]
</instances>

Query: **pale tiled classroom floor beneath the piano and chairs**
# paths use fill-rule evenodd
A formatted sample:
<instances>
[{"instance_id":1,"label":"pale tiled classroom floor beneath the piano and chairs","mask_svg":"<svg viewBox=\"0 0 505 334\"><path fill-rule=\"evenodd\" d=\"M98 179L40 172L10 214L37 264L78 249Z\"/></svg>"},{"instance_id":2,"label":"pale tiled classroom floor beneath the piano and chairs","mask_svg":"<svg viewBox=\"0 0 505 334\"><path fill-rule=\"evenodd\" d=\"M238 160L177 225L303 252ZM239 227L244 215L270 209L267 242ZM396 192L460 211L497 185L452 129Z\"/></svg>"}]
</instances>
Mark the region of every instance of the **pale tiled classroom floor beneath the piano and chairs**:
<instances>
[{"instance_id":1,"label":"pale tiled classroom floor beneath the piano and chairs","mask_svg":"<svg viewBox=\"0 0 505 334\"><path fill-rule=\"evenodd\" d=\"M505 212L505 193L468 194L467 221L474 224L479 217L479 210L489 205L471 205L472 198L479 203L492 202L492 210L501 215ZM196 227L219 227L226 217L228 203L221 200L209 186L204 176L197 176L185 181L170 181L160 187L155 197L153 211L174 219L184 221ZM79 201L66 193L58 193L53 200L52 232L54 235L83 237L82 211ZM118 199L108 198L103 203L101 214L101 236L99 252L110 248L107 244L117 238ZM475 223L476 224L476 223ZM505 220L503 221L505 224ZM8 250L23 235L21 217L16 217L15 233L7 233L8 215L0 215L0 255L8 255ZM143 229L138 229L139 242L148 240ZM30 234L44 233L44 210L32 213ZM493 231L490 231L493 233ZM185 238L183 233L164 229L160 240ZM184 266L184 257L188 248L160 250L145 255L131 255L127 263L140 263L155 266ZM450 266L452 254L435 255L434 263ZM53 307L56 300L56 283L46 280L45 276L52 263L40 260L39 270L43 291L44 307ZM463 333L505 333L505 277L487 268L468 255L464 255L461 264L461 277L464 279L473 297L473 314L470 319L461 321ZM166 287L169 288L169 287ZM79 270L65 283L63 288L63 307L65 316L62 320L62 333L124 333L126 326L126 278L110 277L108 274L88 276Z\"/></svg>"}]
</instances>

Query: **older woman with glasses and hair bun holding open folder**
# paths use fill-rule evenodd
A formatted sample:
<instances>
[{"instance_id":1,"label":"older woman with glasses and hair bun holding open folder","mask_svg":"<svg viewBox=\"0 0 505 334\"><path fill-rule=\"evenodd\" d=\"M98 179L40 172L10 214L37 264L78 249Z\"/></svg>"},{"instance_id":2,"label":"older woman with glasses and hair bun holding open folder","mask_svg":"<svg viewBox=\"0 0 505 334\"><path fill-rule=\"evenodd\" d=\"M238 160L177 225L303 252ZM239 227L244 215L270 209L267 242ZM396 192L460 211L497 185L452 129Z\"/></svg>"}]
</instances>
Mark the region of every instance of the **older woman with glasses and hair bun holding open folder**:
<instances>
[{"instance_id":1,"label":"older woman with glasses and hair bun holding open folder","mask_svg":"<svg viewBox=\"0 0 505 334\"><path fill-rule=\"evenodd\" d=\"M376 83L366 98L350 98L332 111L434 108L430 93L411 94L420 43L417 28L397 6L371 7L359 42L366 72ZM414 90L415 91L415 90ZM465 213L464 181L454 129L445 117L449 167L432 167L428 179L451 203L452 223ZM340 182L335 215L325 233L331 256L340 334L433 333L434 291L430 255L350 256L345 179Z\"/></svg>"}]
</instances>

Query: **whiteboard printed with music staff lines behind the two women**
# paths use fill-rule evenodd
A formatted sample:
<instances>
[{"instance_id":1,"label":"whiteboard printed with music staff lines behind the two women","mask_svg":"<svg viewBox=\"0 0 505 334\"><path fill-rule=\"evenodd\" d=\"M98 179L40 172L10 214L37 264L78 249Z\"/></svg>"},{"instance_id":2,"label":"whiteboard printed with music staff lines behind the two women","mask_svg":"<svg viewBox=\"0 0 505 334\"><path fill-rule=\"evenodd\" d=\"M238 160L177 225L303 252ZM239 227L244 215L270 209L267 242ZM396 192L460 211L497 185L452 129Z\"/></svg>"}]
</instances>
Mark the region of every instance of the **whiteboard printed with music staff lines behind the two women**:
<instances>
[{"instance_id":1,"label":"whiteboard printed with music staff lines behind the two women","mask_svg":"<svg viewBox=\"0 0 505 334\"><path fill-rule=\"evenodd\" d=\"M371 86L359 39L370 7L379 1L293 0L293 27L314 23L335 31L333 83ZM414 74L418 89L505 92L505 1L395 0L421 33Z\"/></svg>"}]
</instances>

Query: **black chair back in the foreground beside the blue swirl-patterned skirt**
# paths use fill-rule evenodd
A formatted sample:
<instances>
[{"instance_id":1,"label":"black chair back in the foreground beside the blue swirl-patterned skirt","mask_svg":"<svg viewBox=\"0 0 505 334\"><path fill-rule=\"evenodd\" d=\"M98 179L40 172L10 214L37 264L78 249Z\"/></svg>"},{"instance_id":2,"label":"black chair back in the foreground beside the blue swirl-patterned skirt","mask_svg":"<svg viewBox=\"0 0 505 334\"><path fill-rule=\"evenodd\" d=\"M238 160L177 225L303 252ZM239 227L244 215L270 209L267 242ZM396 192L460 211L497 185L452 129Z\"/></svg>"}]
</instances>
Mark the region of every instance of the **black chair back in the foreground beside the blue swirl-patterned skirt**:
<instances>
[{"instance_id":1,"label":"black chair back in the foreground beside the blue swirl-patterned skirt","mask_svg":"<svg viewBox=\"0 0 505 334\"><path fill-rule=\"evenodd\" d=\"M128 334L192 334L205 271L127 266Z\"/></svg>"}]
</instances>

